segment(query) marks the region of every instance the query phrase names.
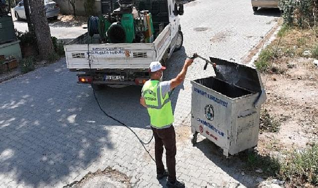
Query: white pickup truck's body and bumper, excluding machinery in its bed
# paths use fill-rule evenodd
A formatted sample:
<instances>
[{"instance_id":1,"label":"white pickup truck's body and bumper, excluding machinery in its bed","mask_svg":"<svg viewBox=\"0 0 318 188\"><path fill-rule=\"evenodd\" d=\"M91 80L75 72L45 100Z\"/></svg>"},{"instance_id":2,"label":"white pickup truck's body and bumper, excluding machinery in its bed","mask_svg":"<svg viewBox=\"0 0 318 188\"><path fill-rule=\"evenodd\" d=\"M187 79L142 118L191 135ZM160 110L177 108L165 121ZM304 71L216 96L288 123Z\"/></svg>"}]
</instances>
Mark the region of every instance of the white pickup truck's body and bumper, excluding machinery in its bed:
<instances>
[{"instance_id":1,"label":"white pickup truck's body and bumper, excluding machinery in its bed","mask_svg":"<svg viewBox=\"0 0 318 188\"><path fill-rule=\"evenodd\" d=\"M183 44L179 18L183 4L175 0L161 1L165 4L160 4L159 11L149 10L158 33L152 43L100 44L94 42L99 41L98 35L91 38L88 33L67 43L64 46L66 66L78 72L78 83L91 84L94 89L103 85L143 85L150 78L148 68L152 61L165 65L172 52Z\"/></svg>"}]
</instances>

